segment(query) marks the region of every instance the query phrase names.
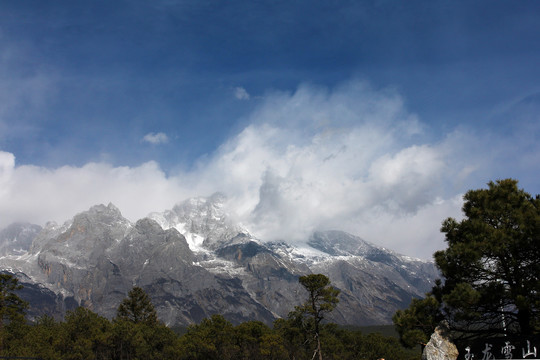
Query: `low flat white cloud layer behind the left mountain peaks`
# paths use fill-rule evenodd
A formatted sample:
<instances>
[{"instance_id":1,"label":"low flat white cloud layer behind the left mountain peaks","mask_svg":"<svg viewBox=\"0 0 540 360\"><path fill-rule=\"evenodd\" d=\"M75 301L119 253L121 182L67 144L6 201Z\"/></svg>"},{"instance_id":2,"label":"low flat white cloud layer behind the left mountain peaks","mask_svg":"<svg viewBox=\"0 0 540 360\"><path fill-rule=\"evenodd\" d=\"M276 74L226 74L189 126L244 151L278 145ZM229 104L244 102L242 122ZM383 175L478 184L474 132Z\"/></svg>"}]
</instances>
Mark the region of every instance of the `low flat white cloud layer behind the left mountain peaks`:
<instances>
[{"instance_id":1,"label":"low flat white cloud layer behind the left mountain peaks","mask_svg":"<svg viewBox=\"0 0 540 360\"><path fill-rule=\"evenodd\" d=\"M64 222L92 205L117 205L132 221L149 210L166 209L183 193L175 178L167 178L154 162L138 167L89 163L83 167L46 169L14 166L9 153L0 153L0 228L14 221ZM7 161L6 161L7 159Z\"/></svg>"}]
</instances>

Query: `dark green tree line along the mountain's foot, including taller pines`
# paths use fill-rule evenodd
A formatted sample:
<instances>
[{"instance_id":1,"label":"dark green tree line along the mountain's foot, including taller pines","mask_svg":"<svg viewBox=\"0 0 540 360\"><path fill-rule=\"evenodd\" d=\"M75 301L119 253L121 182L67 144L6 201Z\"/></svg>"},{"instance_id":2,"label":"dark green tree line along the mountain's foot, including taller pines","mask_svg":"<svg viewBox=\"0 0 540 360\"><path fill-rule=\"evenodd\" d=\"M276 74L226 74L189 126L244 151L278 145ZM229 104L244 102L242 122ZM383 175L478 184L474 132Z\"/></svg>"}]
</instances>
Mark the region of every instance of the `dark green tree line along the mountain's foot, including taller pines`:
<instances>
[{"instance_id":1,"label":"dark green tree line along the mountain's foot, including taller pines","mask_svg":"<svg viewBox=\"0 0 540 360\"><path fill-rule=\"evenodd\" d=\"M306 301L273 326L260 321L233 325L216 314L182 334L157 318L145 291L134 287L113 319L79 307L63 321L44 315L25 319L28 304L12 274L0 274L0 357L43 360L152 359L414 359L397 338L363 334L325 322L338 303L339 290L321 274L300 277Z\"/></svg>"}]
</instances>

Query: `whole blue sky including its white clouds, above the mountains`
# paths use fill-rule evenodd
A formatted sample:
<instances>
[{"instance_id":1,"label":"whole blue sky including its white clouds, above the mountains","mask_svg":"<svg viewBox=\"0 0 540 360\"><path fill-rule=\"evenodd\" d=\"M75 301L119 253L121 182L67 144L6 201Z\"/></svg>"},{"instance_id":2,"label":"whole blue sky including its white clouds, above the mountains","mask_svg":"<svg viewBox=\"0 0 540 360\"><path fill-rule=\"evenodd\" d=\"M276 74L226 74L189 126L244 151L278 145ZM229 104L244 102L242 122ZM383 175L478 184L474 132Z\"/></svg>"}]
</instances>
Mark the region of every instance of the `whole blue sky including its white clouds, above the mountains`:
<instances>
[{"instance_id":1,"label":"whole blue sky including its white clouds, above the mountains","mask_svg":"<svg viewBox=\"0 0 540 360\"><path fill-rule=\"evenodd\" d=\"M540 193L538 34L537 1L2 1L0 227L222 191L428 258L466 190Z\"/></svg>"}]
</instances>

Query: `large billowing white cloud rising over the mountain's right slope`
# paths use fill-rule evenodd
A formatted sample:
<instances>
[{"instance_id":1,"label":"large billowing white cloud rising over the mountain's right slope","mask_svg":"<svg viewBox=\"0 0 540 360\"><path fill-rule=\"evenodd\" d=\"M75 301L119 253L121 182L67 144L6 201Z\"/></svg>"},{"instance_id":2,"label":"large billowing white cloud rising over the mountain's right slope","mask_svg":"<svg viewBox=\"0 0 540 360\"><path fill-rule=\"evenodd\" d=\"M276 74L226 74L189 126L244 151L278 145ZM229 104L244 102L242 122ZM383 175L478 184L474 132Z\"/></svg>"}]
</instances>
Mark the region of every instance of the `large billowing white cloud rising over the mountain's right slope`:
<instances>
[{"instance_id":1,"label":"large billowing white cloud rising over the mountain's right slope","mask_svg":"<svg viewBox=\"0 0 540 360\"><path fill-rule=\"evenodd\" d=\"M424 249L443 246L441 221L460 208L455 192L444 197L453 186L445 174L459 166L446 142L416 143L422 126L397 94L351 83L333 92L303 86L265 100L251 125L197 172L201 190L226 192L252 232L302 241L315 229L346 229L409 254L426 237L433 245ZM419 225L419 214L429 216L430 231L387 237ZM425 251L417 255L430 257Z\"/></svg>"}]
</instances>

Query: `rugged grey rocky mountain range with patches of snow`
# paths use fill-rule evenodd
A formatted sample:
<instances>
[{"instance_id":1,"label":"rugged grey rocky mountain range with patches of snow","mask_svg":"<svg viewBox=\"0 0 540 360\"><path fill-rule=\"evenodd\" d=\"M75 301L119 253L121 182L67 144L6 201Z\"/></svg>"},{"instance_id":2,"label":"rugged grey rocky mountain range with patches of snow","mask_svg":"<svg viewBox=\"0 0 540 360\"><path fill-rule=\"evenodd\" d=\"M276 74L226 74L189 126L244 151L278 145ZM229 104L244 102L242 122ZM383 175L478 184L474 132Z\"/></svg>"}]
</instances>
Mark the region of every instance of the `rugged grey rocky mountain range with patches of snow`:
<instances>
[{"instance_id":1,"label":"rugged grey rocky mountain range with patches of snow","mask_svg":"<svg viewBox=\"0 0 540 360\"><path fill-rule=\"evenodd\" d=\"M97 205L61 226L10 227L0 233L9 234L0 238L0 270L19 276L23 297L39 305L34 315L81 305L113 317L138 285L170 325L215 313L271 323L305 300L298 277L312 272L341 290L333 321L390 323L437 277L431 262L342 231L315 232L303 246L264 242L228 216L225 201L221 194L188 199L136 223L112 204ZM11 246L22 234L31 234L26 245Z\"/></svg>"}]
</instances>

